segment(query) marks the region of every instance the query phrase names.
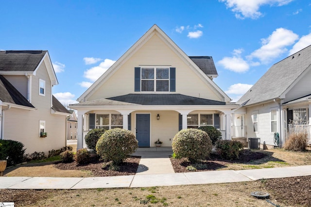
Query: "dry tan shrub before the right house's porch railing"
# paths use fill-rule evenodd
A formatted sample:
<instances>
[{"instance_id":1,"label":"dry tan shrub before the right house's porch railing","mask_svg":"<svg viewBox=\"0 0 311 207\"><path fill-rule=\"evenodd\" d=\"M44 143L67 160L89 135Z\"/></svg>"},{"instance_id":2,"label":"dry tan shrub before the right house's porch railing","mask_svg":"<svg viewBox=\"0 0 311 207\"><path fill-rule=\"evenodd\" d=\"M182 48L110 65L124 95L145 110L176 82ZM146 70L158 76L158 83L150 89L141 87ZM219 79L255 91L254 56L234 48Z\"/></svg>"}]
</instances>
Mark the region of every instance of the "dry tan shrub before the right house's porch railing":
<instances>
[{"instance_id":1,"label":"dry tan shrub before the right house's porch railing","mask_svg":"<svg viewBox=\"0 0 311 207\"><path fill-rule=\"evenodd\" d=\"M291 134L285 141L284 149L292 151L305 151L307 140L307 133Z\"/></svg>"}]
</instances>

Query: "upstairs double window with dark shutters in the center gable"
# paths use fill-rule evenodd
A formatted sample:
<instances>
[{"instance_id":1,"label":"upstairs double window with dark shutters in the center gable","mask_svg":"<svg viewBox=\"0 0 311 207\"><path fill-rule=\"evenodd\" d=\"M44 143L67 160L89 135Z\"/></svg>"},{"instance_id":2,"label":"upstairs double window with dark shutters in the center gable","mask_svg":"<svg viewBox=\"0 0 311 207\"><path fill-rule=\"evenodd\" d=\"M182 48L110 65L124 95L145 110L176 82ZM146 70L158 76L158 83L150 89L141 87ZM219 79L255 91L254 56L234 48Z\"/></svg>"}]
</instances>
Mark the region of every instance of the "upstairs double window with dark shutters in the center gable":
<instances>
[{"instance_id":1,"label":"upstairs double window with dark shutters in the center gable","mask_svg":"<svg viewBox=\"0 0 311 207\"><path fill-rule=\"evenodd\" d=\"M175 92L174 67L136 67L136 92Z\"/></svg>"}]
</instances>

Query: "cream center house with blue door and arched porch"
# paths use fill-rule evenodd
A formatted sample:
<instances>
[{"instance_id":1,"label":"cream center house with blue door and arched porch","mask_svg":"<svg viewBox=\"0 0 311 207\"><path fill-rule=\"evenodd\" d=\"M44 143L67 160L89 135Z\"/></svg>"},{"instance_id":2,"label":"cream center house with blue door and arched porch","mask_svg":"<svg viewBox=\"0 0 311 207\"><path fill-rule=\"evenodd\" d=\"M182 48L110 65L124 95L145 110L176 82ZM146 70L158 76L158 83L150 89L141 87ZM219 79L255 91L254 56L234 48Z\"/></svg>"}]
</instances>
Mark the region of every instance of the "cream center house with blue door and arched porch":
<instances>
[{"instance_id":1,"label":"cream center house with blue door and arched porch","mask_svg":"<svg viewBox=\"0 0 311 207\"><path fill-rule=\"evenodd\" d=\"M78 113L78 149L92 128L130 129L140 147L158 139L172 146L180 129L200 126L231 139L238 105L213 82L217 76L212 57L188 57L154 25L69 106Z\"/></svg>"}]
</instances>

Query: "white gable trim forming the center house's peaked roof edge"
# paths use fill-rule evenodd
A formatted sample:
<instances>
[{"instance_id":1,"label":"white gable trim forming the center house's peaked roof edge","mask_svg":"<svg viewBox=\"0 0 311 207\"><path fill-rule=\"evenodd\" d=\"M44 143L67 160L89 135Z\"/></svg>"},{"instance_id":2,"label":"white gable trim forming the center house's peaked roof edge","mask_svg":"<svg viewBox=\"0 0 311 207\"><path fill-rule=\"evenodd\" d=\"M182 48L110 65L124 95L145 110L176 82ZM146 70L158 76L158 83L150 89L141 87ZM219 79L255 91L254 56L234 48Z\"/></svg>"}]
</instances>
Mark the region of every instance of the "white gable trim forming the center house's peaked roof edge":
<instances>
[{"instance_id":1,"label":"white gable trim forming the center house's peaked roof edge","mask_svg":"<svg viewBox=\"0 0 311 207\"><path fill-rule=\"evenodd\" d=\"M196 72L196 74L206 80L206 83L211 87L214 88L215 92L219 95L219 97L222 97L226 102L230 102L231 99L229 96L223 92L216 83L214 83L203 70L206 70L207 72L207 65L204 66L203 68L205 69L200 69L200 67L195 64L190 57L186 55L184 51L182 51L172 40L171 38L163 32L157 25L153 25L142 37L139 38L139 40L131 47L129 48L122 56L115 62L98 80L96 80L77 100L79 102L85 101L87 96L90 96L91 94L94 93L94 91L99 88L107 79L109 79L110 76L112 76L129 58L131 58L136 51L138 51L139 48L142 47L148 40L154 35L157 34L165 44L169 48L171 48L178 57L182 61L184 61L187 65L190 66L192 70ZM203 59L201 60L196 60L198 64L203 66ZM212 59L210 59L212 61ZM209 60L209 64L211 61ZM204 60L206 61L206 60ZM215 76L213 76L215 77Z\"/></svg>"}]
</instances>

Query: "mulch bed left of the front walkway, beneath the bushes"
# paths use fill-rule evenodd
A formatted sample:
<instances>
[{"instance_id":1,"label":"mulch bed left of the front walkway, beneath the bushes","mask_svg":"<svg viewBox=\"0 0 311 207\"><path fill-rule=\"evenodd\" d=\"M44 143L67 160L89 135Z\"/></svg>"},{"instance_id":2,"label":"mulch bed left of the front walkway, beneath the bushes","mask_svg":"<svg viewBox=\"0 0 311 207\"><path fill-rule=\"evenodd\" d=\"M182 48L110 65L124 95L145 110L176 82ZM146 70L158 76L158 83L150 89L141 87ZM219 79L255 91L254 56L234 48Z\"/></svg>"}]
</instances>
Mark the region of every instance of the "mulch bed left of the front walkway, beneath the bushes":
<instances>
[{"instance_id":1,"label":"mulch bed left of the front walkway, beneath the bushes","mask_svg":"<svg viewBox=\"0 0 311 207\"><path fill-rule=\"evenodd\" d=\"M98 157L92 158L87 164L77 164L77 162L62 163L56 162L55 167L60 170L87 170L91 171L93 176L120 176L120 175L135 175L140 157L131 156L125 159L120 165L120 170L109 170L109 163L99 160Z\"/></svg>"}]
</instances>

